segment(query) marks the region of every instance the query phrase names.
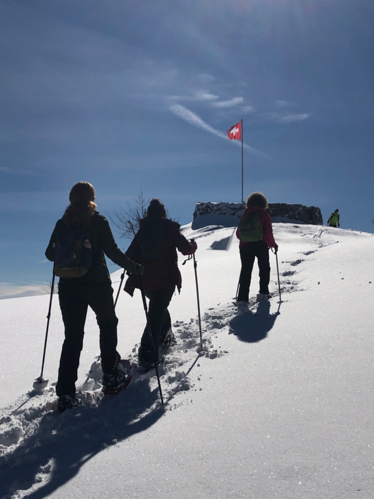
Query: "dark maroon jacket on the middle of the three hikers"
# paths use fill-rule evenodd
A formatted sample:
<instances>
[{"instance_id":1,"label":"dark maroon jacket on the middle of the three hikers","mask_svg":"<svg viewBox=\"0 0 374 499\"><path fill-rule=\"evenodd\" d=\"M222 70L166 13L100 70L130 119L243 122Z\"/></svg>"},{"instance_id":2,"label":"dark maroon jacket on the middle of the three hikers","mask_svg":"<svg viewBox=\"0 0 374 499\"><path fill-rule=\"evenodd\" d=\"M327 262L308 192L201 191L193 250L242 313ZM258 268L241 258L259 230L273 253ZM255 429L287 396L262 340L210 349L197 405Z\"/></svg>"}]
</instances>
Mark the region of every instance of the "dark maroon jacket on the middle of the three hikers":
<instances>
[{"instance_id":1,"label":"dark maroon jacket on the middle of the three hikers","mask_svg":"<svg viewBox=\"0 0 374 499\"><path fill-rule=\"evenodd\" d=\"M159 227L159 234L155 234L150 217L145 217L140 224L140 230L133 239L133 242L126 251L126 254L140 263L144 267L143 285L145 289L168 289L177 286L178 290L182 287L182 276L178 268L177 250L182 254L192 254L196 251L196 243L189 243L185 236L179 230L181 227L177 222L168 219L160 219L155 222ZM148 226L148 227L147 227ZM149 229L152 234L152 241L155 242L155 258L146 258L141 252L143 244L142 236L144 230ZM151 245L144 245L150 251ZM139 277L130 275L125 284L125 291L131 296L134 289L140 287Z\"/></svg>"}]
</instances>

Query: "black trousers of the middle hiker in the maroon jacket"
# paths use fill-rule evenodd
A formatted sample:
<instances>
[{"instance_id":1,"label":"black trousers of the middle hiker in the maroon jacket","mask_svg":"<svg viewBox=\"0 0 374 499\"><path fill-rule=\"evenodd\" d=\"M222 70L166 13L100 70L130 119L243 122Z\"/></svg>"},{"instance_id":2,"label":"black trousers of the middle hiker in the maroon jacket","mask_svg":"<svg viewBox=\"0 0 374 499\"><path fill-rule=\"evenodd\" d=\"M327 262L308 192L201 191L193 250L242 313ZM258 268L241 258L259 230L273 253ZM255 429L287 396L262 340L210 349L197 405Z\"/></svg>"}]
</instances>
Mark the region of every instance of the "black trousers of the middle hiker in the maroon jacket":
<instances>
[{"instance_id":1,"label":"black trousers of the middle hiker in the maroon jacket","mask_svg":"<svg viewBox=\"0 0 374 499\"><path fill-rule=\"evenodd\" d=\"M173 297L176 287L168 289L145 289L144 292L149 298L148 316L151 325L152 339L155 346L156 357L158 357L160 339L166 337L167 332L172 327L168 306ZM153 362L153 352L149 339L148 325L144 329L139 349L139 359L146 362Z\"/></svg>"}]
</instances>

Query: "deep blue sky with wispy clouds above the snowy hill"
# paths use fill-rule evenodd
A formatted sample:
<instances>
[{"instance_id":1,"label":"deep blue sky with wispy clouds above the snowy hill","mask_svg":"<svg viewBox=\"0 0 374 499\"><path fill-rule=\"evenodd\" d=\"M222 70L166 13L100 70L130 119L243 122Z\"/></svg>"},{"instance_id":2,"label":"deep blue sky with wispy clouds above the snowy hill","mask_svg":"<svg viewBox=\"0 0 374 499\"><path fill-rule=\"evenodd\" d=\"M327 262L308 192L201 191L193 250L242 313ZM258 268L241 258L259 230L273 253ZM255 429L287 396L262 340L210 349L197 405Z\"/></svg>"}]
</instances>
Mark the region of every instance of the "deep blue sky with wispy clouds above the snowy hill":
<instances>
[{"instance_id":1,"label":"deep blue sky with wispy clouds above the snowy hill","mask_svg":"<svg viewBox=\"0 0 374 499\"><path fill-rule=\"evenodd\" d=\"M105 215L240 201L241 118L245 195L373 232L373 25L372 0L0 0L0 296L49 280L77 181Z\"/></svg>"}]
</instances>

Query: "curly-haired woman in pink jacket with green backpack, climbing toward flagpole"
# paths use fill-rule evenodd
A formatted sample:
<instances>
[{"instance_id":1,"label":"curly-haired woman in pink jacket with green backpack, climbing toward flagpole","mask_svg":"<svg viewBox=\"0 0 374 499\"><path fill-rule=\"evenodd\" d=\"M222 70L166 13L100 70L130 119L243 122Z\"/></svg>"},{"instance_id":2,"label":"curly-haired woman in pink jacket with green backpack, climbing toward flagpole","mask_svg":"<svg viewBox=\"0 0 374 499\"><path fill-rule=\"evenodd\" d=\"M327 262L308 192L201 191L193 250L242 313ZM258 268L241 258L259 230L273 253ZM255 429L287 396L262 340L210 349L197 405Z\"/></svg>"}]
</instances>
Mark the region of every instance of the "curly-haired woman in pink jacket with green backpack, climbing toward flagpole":
<instances>
[{"instance_id":1,"label":"curly-haired woman in pink jacket with green backpack, climbing toward flagpole","mask_svg":"<svg viewBox=\"0 0 374 499\"><path fill-rule=\"evenodd\" d=\"M246 209L240 218L236 237L240 240L239 251L241 271L239 278L238 302L247 303L254 259L257 257L260 289L257 301L268 299L270 282L269 249L278 246L273 237L270 215L266 212L268 203L261 192L254 192L247 198Z\"/></svg>"}]
</instances>

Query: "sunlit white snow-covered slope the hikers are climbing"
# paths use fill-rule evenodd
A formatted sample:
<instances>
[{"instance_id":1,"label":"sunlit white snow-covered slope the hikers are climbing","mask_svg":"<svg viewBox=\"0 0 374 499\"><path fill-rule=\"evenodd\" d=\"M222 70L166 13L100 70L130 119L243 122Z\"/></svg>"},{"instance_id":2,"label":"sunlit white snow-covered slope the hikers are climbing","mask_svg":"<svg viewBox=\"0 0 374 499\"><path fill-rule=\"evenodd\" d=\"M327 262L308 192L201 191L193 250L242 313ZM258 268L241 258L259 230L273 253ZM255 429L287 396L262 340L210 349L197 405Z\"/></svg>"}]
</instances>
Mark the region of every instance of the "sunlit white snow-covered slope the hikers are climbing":
<instances>
[{"instance_id":1,"label":"sunlit white snow-covered slope the hikers are climbing","mask_svg":"<svg viewBox=\"0 0 374 499\"><path fill-rule=\"evenodd\" d=\"M237 314L233 229L194 237L206 351L198 355L193 265L170 306L178 345L160 368L100 401L98 331L87 319L81 407L52 412L63 327L54 297L43 394L47 296L0 301L0 498L372 498L374 238L275 224L277 296ZM120 271L113 274L118 288ZM372 284L373 282L373 284ZM258 288L254 270L251 294ZM118 303L119 351L136 359L139 294ZM91 372L87 376L91 368Z\"/></svg>"}]
</instances>

